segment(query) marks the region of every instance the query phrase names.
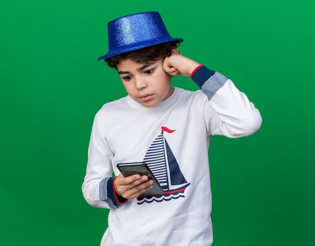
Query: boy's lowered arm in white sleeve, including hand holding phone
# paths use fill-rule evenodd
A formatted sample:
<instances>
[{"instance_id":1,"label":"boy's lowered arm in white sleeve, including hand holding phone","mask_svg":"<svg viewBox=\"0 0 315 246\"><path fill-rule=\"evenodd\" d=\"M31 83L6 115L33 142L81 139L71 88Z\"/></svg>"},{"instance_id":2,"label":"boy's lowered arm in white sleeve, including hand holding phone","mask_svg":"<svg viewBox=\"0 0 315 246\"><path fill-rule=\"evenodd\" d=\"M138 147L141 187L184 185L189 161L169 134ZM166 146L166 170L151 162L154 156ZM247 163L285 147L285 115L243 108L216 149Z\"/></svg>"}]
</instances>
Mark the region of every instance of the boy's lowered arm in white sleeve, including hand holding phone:
<instances>
[{"instance_id":1,"label":"boy's lowered arm in white sleeve, including hand holding phone","mask_svg":"<svg viewBox=\"0 0 315 246\"><path fill-rule=\"evenodd\" d=\"M100 112L94 119L88 153L87 172L82 191L90 205L115 208L152 188L152 181L145 175L123 177L120 174L112 177L111 160L114 155L107 142Z\"/></svg>"}]
</instances>

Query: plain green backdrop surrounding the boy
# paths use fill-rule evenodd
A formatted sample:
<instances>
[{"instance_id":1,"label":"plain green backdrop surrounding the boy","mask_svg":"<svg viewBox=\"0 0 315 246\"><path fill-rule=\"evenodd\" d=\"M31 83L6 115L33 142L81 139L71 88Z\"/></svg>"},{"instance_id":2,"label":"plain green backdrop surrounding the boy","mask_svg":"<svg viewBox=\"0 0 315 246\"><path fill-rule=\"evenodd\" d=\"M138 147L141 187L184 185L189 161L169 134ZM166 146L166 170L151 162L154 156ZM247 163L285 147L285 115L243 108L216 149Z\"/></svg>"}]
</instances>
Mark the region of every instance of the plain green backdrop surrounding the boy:
<instances>
[{"instance_id":1,"label":"plain green backdrop surrounding the boy","mask_svg":"<svg viewBox=\"0 0 315 246\"><path fill-rule=\"evenodd\" d=\"M213 245L315 245L314 3L2 1L0 244L99 245L108 210L82 196L87 148L96 112L126 92L96 60L108 21L159 11L181 53L263 117L250 137L210 143Z\"/></svg>"}]
</instances>

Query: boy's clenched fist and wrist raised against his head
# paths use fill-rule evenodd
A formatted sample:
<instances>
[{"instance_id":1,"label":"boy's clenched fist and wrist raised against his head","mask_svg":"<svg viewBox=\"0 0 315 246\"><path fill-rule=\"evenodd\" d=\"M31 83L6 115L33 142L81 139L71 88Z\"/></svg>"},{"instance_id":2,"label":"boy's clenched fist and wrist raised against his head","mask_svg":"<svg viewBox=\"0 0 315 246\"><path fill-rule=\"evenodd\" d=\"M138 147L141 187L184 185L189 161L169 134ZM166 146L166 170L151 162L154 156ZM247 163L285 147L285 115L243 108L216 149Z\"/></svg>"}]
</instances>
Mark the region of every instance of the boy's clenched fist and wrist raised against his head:
<instances>
[{"instance_id":1,"label":"boy's clenched fist and wrist raised against his head","mask_svg":"<svg viewBox=\"0 0 315 246\"><path fill-rule=\"evenodd\" d=\"M190 76L199 65L201 64L179 53L176 48L173 49L171 56L164 59L163 69L172 76Z\"/></svg>"}]
</instances>

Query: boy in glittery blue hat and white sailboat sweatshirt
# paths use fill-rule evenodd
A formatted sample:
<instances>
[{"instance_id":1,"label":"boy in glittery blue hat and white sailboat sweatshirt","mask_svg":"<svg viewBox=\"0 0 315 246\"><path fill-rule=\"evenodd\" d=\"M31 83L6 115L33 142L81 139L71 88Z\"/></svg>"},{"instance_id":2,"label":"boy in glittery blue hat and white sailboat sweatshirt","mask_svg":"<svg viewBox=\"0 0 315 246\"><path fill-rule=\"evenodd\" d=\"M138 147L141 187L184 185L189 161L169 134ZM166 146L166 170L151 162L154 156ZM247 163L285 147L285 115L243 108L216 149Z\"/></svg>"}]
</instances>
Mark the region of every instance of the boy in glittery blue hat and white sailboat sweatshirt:
<instances>
[{"instance_id":1,"label":"boy in glittery blue hat and white sailboat sweatshirt","mask_svg":"<svg viewBox=\"0 0 315 246\"><path fill-rule=\"evenodd\" d=\"M180 54L183 40L169 35L159 13L113 20L108 34L99 60L118 71L128 96L96 114L89 145L83 194L110 209L101 245L211 245L209 140L253 134L260 113L230 79ZM171 87L176 75L201 90ZM116 167L141 161L162 194L143 194L152 181Z\"/></svg>"}]
</instances>

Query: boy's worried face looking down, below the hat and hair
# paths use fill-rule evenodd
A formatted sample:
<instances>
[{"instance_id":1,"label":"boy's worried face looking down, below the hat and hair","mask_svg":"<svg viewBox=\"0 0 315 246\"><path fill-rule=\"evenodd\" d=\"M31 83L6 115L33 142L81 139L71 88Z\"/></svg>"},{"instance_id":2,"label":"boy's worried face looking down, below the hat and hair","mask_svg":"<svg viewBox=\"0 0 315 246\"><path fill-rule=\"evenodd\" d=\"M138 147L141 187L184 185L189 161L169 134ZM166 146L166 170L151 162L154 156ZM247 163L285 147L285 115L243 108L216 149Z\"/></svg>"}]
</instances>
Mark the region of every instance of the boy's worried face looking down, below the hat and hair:
<instances>
[{"instance_id":1,"label":"boy's worried face looking down, below the hat and hair","mask_svg":"<svg viewBox=\"0 0 315 246\"><path fill-rule=\"evenodd\" d=\"M163 60L136 63L127 59L117 65L128 95L144 107L154 107L169 98L174 91L171 75L163 69Z\"/></svg>"}]
</instances>

